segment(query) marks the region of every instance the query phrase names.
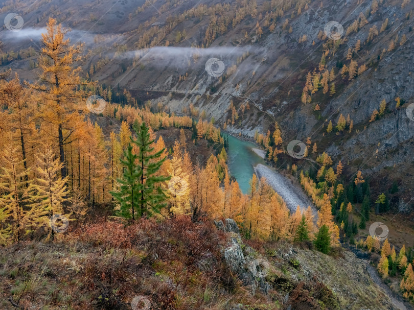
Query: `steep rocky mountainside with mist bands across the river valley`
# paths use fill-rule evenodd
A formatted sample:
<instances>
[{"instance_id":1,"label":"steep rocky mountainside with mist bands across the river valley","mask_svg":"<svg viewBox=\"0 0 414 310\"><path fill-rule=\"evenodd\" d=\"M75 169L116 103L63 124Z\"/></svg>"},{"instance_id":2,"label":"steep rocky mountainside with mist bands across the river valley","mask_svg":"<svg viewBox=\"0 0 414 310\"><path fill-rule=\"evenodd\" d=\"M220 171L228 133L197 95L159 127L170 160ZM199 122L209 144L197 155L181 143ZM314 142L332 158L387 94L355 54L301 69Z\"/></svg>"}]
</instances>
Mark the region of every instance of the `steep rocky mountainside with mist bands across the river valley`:
<instances>
[{"instance_id":1,"label":"steep rocky mountainside with mist bands across the river valley","mask_svg":"<svg viewBox=\"0 0 414 310\"><path fill-rule=\"evenodd\" d=\"M272 131L278 122L284 148L290 140L310 137L318 152L349 164L350 178L358 170L371 176L375 194L396 181L399 198L412 204L414 121L406 113L414 92L411 1L51 0L3 5L2 17L16 11L25 20L19 32L0 32L5 53L30 44L37 50L39 31L31 26L44 27L48 16L57 17L73 28L73 41L86 42L83 65L91 78L177 113L194 106L194 114L204 110L219 125L232 119L233 102L238 120L228 123L228 131L253 137L256 130ZM329 21L343 27L340 39L335 33L334 39L327 37L332 37L329 28L324 32ZM205 70L212 57L224 64L224 70L216 67L222 71L216 76ZM24 72L31 59L6 61L3 67L31 79L36 69L32 76ZM343 66L355 73L343 71L343 78ZM332 69L324 90L323 74ZM313 89L302 100L308 73ZM386 109L369 122L382 100ZM320 110L315 111L316 105ZM350 115L353 130L328 133L329 121L335 126L340 114Z\"/></svg>"}]
</instances>

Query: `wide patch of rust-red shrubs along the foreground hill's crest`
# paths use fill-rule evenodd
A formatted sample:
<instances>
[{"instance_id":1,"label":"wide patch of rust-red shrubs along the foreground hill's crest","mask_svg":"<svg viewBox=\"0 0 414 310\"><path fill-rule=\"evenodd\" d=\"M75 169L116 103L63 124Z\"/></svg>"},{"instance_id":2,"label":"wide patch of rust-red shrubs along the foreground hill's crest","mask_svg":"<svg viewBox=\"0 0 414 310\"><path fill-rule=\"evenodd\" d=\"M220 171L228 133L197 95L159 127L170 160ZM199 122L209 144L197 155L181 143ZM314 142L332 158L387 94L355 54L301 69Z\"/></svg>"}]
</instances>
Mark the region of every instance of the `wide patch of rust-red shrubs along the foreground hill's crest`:
<instances>
[{"instance_id":1,"label":"wide patch of rust-red shrubs along the foreground hill's crest","mask_svg":"<svg viewBox=\"0 0 414 310\"><path fill-rule=\"evenodd\" d=\"M147 253L146 260L182 260L187 266L206 252L219 257L218 245L223 239L210 222L193 223L188 216L163 222L140 219L130 226L106 222L85 225L68 234L68 239L107 248L137 248Z\"/></svg>"}]
</instances>

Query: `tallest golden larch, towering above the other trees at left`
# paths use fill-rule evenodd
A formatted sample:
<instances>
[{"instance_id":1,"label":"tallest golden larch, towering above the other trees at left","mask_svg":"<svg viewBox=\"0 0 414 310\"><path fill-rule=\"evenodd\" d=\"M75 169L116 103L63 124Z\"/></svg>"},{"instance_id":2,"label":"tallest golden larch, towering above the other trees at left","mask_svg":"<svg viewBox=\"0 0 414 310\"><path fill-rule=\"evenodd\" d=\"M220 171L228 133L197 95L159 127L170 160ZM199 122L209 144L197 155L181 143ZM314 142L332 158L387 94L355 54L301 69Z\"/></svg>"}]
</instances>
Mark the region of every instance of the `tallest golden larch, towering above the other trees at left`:
<instances>
[{"instance_id":1,"label":"tallest golden larch, towering above the other trees at left","mask_svg":"<svg viewBox=\"0 0 414 310\"><path fill-rule=\"evenodd\" d=\"M47 32L42 34L39 68L41 69L41 85L32 85L42 93L43 104L41 105L43 120L53 126L56 130L61 176L67 175L64 145L70 142L68 139L76 125L80 122L76 106L76 100L80 99L80 92L76 87L83 84L79 71L73 68L74 62L80 60L82 45L71 46L70 39L65 39L68 30L63 29L56 19L49 18L46 28Z\"/></svg>"}]
</instances>

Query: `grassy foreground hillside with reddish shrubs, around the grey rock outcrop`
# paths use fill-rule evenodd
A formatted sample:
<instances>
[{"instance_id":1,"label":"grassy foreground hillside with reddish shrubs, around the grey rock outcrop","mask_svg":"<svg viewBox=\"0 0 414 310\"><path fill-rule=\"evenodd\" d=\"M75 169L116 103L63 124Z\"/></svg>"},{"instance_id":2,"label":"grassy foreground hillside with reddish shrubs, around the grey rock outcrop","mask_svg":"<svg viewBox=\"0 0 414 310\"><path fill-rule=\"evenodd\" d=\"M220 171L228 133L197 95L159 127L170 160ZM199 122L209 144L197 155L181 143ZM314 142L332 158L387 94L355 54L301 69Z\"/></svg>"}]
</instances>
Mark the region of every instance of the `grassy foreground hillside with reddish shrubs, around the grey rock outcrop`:
<instances>
[{"instance_id":1,"label":"grassy foreground hillside with reddish shrubs, around the grey rock outcrop","mask_svg":"<svg viewBox=\"0 0 414 310\"><path fill-rule=\"evenodd\" d=\"M268 294L252 294L224 259L231 237L182 216L85 225L49 243L15 244L0 250L0 307L131 309L144 296L159 310L394 309L351 252L333 257L285 242L240 241L246 259L270 266Z\"/></svg>"}]
</instances>

